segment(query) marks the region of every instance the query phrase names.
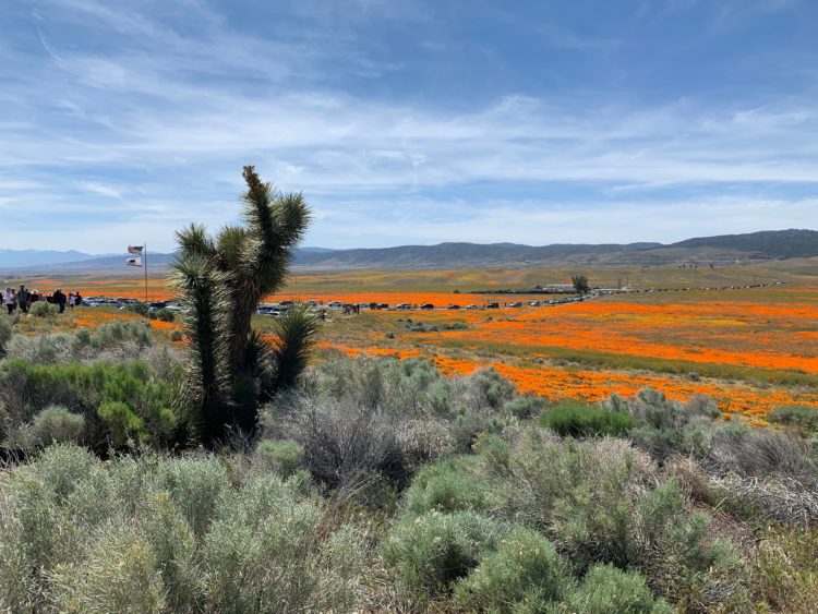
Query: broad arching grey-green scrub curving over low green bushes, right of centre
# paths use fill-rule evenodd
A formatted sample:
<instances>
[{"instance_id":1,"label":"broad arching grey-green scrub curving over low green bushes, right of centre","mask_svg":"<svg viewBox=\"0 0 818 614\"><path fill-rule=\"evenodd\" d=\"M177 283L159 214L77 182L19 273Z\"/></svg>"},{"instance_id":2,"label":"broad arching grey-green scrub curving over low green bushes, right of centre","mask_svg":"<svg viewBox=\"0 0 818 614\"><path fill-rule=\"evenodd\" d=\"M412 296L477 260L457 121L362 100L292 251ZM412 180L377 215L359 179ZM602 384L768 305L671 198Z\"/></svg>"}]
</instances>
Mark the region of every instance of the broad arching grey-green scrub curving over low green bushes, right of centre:
<instances>
[{"instance_id":1,"label":"broad arching grey-green scrub curving over low green bushes, right of centre","mask_svg":"<svg viewBox=\"0 0 818 614\"><path fill-rule=\"evenodd\" d=\"M708 537L709 517L627 442L529 429L510 442L484 435L476 449L420 471L401 522L479 511L539 531L580 574L597 563L638 569L652 590L696 607L743 599L731 544Z\"/></svg>"}]
</instances>

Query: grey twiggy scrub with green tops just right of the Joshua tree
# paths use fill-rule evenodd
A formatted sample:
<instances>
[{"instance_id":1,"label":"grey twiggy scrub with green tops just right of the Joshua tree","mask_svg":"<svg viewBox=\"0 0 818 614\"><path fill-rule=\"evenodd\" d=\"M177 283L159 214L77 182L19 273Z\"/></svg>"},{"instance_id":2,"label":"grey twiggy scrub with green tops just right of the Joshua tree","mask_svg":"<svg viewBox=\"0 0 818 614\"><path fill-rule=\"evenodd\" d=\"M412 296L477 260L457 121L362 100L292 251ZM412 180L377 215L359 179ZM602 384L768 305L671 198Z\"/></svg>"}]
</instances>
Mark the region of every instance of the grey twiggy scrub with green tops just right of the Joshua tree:
<instances>
[{"instance_id":1,"label":"grey twiggy scrub with green tops just right of the Joshua tree","mask_svg":"<svg viewBox=\"0 0 818 614\"><path fill-rule=\"evenodd\" d=\"M268 436L298 442L320 482L353 490L373 477L402 487L424 461L502 433L514 387L496 371L446 381L430 362L337 358L265 408Z\"/></svg>"}]
</instances>

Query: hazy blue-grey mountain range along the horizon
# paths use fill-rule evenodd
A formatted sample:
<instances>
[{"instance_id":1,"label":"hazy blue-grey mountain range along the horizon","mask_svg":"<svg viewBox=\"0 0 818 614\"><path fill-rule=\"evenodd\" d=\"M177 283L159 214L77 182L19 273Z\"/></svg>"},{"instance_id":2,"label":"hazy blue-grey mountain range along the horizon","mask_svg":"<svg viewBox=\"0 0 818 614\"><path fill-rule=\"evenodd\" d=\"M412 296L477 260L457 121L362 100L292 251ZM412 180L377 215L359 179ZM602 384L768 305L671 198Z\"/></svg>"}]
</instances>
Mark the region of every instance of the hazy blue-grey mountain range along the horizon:
<instances>
[{"instance_id":1,"label":"hazy blue-grey mountain range along the horizon","mask_svg":"<svg viewBox=\"0 0 818 614\"><path fill-rule=\"evenodd\" d=\"M633 266L676 263L747 264L818 256L818 231L767 230L687 239L677 243L552 244L440 243L398 248L328 250L300 248L296 267L434 269L520 266ZM0 250L0 270L12 274L110 273L125 268L125 255L95 256L82 252ZM152 268L166 268L175 254L148 254Z\"/></svg>"}]
</instances>

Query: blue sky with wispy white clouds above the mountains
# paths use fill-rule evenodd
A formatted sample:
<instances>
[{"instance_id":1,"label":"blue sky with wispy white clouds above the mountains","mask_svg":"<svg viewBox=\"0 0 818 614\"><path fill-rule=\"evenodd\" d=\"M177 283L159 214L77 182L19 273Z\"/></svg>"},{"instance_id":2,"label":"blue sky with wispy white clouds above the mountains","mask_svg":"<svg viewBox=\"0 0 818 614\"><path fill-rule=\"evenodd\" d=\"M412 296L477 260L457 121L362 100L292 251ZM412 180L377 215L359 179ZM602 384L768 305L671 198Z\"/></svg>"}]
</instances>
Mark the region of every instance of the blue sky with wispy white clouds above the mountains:
<instances>
[{"instance_id":1,"label":"blue sky with wispy white clouds above the mountains","mask_svg":"<svg viewBox=\"0 0 818 614\"><path fill-rule=\"evenodd\" d=\"M814 0L0 0L0 249L818 228Z\"/></svg>"}]
</instances>

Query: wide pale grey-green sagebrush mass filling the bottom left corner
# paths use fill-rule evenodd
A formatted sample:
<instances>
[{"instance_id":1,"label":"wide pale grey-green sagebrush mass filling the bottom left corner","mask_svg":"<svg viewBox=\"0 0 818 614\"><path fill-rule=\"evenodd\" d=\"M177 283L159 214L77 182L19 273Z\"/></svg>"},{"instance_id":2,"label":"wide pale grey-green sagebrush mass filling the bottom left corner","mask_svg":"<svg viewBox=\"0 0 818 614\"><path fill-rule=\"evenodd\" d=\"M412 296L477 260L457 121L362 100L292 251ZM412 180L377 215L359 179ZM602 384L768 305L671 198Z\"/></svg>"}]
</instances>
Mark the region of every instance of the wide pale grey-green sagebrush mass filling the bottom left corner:
<instances>
[{"instance_id":1,"label":"wide pale grey-green sagebrush mass filling the bottom left corner","mask_svg":"<svg viewBox=\"0 0 818 614\"><path fill-rule=\"evenodd\" d=\"M0 477L0 607L346 611L365 555L303 480L52 446Z\"/></svg>"}]
</instances>

